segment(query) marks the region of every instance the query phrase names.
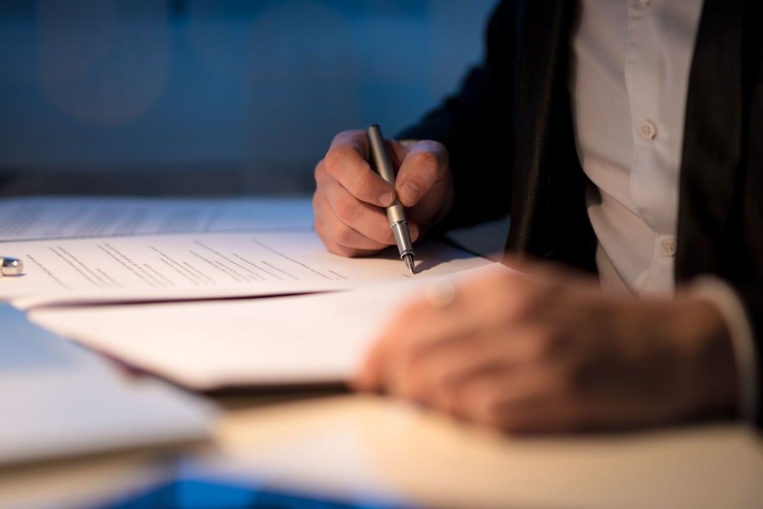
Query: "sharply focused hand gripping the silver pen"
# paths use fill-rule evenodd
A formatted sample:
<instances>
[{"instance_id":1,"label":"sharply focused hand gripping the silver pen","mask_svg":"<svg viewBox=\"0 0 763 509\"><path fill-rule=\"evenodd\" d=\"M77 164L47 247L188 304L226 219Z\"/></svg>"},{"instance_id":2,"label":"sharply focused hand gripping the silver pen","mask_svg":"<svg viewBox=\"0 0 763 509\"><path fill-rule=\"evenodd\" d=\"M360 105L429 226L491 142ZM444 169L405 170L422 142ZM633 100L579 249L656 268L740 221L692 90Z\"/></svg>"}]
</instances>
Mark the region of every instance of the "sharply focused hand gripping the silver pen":
<instances>
[{"instance_id":1,"label":"sharply focused hand gripping the silver pen","mask_svg":"<svg viewBox=\"0 0 763 509\"><path fill-rule=\"evenodd\" d=\"M388 149L398 170L395 188L369 165L371 150L362 130L337 134L315 167L315 231L332 253L371 255L394 245L383 207L395 196L410 209L407 219L413 241L449 207L452 180L445 147L433 141L406 145L389 141Z\"/></svg>"}]
</instances>

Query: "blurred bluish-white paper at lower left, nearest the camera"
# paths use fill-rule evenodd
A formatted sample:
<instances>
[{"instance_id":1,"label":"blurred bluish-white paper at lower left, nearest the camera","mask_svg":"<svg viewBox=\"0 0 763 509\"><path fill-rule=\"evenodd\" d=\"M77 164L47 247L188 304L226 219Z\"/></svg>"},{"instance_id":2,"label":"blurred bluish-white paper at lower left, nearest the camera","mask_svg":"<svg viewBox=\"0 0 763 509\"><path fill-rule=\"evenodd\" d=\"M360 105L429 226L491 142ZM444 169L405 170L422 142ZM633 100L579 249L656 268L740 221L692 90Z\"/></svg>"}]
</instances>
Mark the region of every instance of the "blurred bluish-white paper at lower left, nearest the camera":
<instances>
[{"instance_id":1,"label":"blurred bluish-white paper at lower left, nearest the camera","mask_svg":"<svg viewBox=\"0 0 763 509\"><path fill-rule=\"evenodd\" d=\"M7 304L0 327L0 465L182 443L212 431L216 412L207 402L127 377Z\"/></svg>"}]
</instances>

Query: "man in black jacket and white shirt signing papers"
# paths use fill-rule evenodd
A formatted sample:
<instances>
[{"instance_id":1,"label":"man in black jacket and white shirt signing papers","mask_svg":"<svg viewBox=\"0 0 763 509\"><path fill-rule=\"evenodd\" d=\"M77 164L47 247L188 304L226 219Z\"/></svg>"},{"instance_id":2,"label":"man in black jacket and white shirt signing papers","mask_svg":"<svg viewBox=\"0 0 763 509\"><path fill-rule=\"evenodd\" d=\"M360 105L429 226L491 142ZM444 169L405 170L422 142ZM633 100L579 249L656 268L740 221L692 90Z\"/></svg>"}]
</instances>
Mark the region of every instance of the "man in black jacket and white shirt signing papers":
<instances>
[{"instance_id":1,"label":"man in black jacket and white shirt signing papers","mask_svg":"<svg viewBox=\"0 0 763 509\"><path fill-rule=\"evenodd\" d=\"M315 169L330 251L393 244L394 192L414 240L510 212L530 274L410 303L357 386L510 432L761 424L759 5L507 0L483 65L389 142L394 190L362 131L337 135Z\"/></svg>"}]
</instances>

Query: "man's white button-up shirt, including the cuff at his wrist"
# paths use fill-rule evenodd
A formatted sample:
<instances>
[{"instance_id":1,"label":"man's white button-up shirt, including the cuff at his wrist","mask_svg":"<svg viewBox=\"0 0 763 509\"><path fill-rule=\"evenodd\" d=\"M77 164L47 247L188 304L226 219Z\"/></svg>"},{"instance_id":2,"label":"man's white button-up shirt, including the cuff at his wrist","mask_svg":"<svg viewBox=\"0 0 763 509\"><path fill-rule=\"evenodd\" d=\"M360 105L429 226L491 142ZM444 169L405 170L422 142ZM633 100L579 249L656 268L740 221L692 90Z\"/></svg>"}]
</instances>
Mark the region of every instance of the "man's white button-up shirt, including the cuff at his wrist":
<instances>
[{"instance_id":1,"label":"man's white button-up shirt, including the cuff at his wrist","mask_svg":"<svg viewBox=\"0 0 763 509\"><path fill-rule=\"evenodd\" d=\"M703 0L582 0L569 88L597 268L609 290L671 295L678 175L694 43ZM752 332L739 299L716 283L703 294L729 323L754 410Z\"/></svg>"}]
</instances>

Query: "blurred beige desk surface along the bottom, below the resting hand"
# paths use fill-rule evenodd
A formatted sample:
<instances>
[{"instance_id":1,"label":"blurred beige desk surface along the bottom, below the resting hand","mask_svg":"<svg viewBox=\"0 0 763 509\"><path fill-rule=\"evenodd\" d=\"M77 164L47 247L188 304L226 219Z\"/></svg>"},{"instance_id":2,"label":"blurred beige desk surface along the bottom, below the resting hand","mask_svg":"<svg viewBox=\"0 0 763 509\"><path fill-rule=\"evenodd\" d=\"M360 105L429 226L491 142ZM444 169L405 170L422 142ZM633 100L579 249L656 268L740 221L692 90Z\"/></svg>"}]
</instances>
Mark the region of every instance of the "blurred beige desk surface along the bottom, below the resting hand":
<instances>
[{"instance_id":1,"label":"blurred beige desk surface along the bottom, below the resting hand","mask_svg":"<svg viewBox=\"0 0 763 509\"><path fill-rule=\"evenodd\" d=\"M763 440L737 425L507 438L366 395L228 398L211 447L0 472L0 507L92 507L177 475L417 507L749 507ZM55 502L55 504L53 504Z\"/></svg>"}]
</instances>

